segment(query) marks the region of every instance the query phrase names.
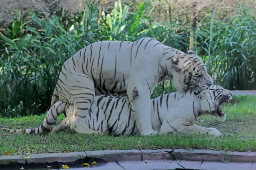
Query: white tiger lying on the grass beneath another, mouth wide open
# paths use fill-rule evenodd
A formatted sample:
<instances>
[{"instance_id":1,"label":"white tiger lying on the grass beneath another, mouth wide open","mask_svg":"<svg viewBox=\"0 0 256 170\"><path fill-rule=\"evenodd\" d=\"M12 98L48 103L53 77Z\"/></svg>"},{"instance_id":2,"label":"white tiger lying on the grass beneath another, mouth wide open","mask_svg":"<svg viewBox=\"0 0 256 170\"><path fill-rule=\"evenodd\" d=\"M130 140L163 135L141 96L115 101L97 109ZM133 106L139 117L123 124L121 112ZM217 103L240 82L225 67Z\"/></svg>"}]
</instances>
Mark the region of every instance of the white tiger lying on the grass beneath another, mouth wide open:
<instances>
[{"instance_id":1,"label":"white tiger lying on the grass beneath another, mouth wide open","mask_svg":"<svg viewBox=\"0 0 256 170\"><path fill-rule=\"evenodd\" d=\"M194 94L195 89L190 89L186 93L164 94L151 100L151 124L155 131L160 133L210 133L220 136L221 133L215 128L201 127L194 125L198 116L210 114L224 121L226 115L222 112L221 104L229 102L232 99L232 93L221 86L212 85L208 89L208 94L198 97ZM73 106L65 105L56 108L59 113L63 111L67 118L63 119L57 125L51 128L52 132L70 130L70 118L73 115ZM59 116L54 116L56 119ZM134 115L131 113L131 105L128 97L121 96L95 96L90 108L90 112L86 115L85 124L92 130L99 131L104 134L113 133L113 135L135 135L140 134L137 128ZM53 120L53 119L52 119ZM52 120L48 120L51 121ZM44 124L44 123L43 123ZM76 128L76 125L73 125ZM29 133L38 134L38 128L3 130L10 133Z\"/></svg>"}]
</instances>

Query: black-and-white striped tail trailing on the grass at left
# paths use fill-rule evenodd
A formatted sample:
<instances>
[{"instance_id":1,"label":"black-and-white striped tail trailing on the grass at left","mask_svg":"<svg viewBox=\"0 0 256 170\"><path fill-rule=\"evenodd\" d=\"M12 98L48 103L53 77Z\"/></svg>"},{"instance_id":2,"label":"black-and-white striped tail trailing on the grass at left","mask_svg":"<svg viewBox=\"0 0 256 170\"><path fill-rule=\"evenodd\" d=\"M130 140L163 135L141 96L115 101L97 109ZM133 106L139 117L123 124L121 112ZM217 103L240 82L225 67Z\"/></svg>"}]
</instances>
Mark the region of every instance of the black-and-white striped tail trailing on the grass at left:
<instances>
[{"instance_id":1,"label":"black-and-white striped tail trailing on the grass at left","mask_svg":"<svg viewBox=\"0 0 256 170\"><path fill-rule=\"evenodd\" d=\"M3 131L9 132L9 133L26 133L26 134L42 134L49 132L50 127L52 127L55 122L57 121L58 116L60 116L61 113L64 112L66 102L62 102L59 100L56 102L48 111L46 117L44 118L44 122L41 126L36 128L26 128L26 129L9 129L9 128L3 128Z\"/></svg>"}]
</instances>

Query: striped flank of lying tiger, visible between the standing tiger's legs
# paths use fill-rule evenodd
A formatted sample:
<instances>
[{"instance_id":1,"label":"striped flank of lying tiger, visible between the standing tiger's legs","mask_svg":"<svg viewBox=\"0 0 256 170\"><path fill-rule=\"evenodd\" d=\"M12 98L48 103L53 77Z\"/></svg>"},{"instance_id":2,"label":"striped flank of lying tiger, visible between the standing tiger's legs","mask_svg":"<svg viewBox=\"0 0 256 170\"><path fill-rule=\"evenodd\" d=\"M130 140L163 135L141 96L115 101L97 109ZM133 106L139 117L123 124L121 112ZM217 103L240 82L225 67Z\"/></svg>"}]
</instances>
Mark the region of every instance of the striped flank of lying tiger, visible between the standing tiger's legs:
<instances>
[{"instance_id":1,"label":"striped flank of lying tiger, visible between the standing tiger's legs","mask_svg":"<svg viewBox=\"0 0 256 170\"><path fill-rule=\"evenodd\" d=\"M87 126L104 134L135 135L140 133L127 97L95 96L87 116Z\"/></svg>"}]
</instances>

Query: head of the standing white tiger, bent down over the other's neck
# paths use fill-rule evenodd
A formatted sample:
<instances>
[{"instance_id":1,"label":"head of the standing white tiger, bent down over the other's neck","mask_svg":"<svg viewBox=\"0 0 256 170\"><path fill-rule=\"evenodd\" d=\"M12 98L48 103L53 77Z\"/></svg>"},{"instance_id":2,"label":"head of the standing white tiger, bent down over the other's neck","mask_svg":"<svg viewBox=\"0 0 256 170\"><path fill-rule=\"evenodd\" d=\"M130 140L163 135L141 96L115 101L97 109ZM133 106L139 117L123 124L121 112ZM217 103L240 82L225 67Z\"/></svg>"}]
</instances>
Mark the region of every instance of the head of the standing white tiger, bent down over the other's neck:
<instances>
[{"instance_id":1,"label":"head of the standing white tiger, bent down over the other's neck","mask_svg":"<svg viewBox=\"0 0 256 170\"><path fill-rule=\"evenodd\" d=\"M182 59L172 59L172 64L179 77L174 79L174 84L180 91L187 91L189 86L195 86L195 94L204 96L212 83L212 77L207 73L207 68L195 51L188 50L186 57Z\"/></svg>"}]
</instances>

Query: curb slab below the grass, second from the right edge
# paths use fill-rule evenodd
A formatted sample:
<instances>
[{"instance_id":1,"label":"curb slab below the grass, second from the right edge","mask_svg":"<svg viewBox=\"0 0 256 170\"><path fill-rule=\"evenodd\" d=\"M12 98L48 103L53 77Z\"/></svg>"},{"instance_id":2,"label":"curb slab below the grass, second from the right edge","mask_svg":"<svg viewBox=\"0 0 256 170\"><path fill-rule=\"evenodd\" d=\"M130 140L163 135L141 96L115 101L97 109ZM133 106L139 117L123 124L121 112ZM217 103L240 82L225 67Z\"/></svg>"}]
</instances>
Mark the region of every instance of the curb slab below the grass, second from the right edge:
<instances>
[{"instance_id":1,"label":"curb slab below the grass, second from the right edge","mask_svg":"<svg viewBox=\"0 0 256 170\"><path fill-rule=\"evenodd\" d=\"M174 159L188 161L223 161L224 155L219 150L185 150L174 149Z\"/></svg>"}]
</instances>

